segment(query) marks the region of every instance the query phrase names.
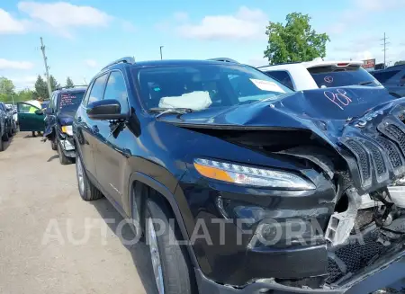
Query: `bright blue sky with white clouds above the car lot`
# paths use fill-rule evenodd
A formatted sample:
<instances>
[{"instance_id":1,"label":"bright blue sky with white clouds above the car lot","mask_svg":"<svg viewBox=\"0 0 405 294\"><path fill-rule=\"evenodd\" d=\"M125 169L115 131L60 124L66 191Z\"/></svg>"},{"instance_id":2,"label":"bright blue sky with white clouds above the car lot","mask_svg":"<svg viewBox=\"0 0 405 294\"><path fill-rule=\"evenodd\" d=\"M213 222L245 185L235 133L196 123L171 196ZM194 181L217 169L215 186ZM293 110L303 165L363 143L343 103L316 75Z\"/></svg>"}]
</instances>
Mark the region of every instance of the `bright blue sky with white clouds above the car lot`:
<instances>
[{"instance_id":1,"label":"bright blue sky with white clouds above the car lot","mask_svg":"<svg viewBox=\"0 0 405 294\"><path fill-rule=\"evenodd\" d=\"M266 65L268 22L288 13L308 13L317 32L327 32L326 59L405 59L405 0L0 0L0 76L17 89L32 88L45 67L65 85L88 83L106 64L132 56L233 58Z\"/></svg>"}]
</instances>

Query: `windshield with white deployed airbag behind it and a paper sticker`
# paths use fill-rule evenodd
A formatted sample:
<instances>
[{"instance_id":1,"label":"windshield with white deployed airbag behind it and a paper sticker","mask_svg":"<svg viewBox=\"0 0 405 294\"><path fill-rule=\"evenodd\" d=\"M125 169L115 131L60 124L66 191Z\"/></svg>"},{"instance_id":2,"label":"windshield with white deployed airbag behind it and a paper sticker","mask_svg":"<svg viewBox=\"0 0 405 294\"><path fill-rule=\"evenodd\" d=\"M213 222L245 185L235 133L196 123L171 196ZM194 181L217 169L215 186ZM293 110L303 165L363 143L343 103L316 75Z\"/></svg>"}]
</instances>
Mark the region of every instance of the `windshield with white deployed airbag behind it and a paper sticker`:
<instances>
[{"instance_id":1,"label":"windshield with white deployed airbag behind it and a paper sticker","mask_svg":"<svg viewBox=\"0 0 405 294\"><path fill-rule=\"evenodd\" d=\"M229 107L275 100L293 92L257 69L242 65L145 67L136 74L146 109Z\"/></svg>"}]
</instances>

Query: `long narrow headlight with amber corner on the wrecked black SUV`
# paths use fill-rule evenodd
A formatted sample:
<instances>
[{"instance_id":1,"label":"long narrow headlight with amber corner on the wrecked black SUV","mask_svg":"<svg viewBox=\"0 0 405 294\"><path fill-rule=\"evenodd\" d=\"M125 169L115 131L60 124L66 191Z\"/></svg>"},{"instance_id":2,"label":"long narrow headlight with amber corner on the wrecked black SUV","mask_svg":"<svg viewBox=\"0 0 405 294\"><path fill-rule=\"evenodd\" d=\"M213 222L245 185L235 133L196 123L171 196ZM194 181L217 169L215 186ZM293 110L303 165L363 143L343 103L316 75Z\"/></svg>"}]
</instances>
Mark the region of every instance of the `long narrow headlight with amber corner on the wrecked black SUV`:
<instances>
[{"instance_id":1,"label":"long narrow headlight with amber corner on the wrecked black SUV","mask_svg":"<svg viewBox=\"0 0 405 294\"><path fill-rule=\"evenodd\" d=\"M233 165L210 159L194 159L198 173L207 178L239 183L249 186L313 190L315 185L301 176L287 172L257 168L247 165Z\"/></svg>"}]
</instances>

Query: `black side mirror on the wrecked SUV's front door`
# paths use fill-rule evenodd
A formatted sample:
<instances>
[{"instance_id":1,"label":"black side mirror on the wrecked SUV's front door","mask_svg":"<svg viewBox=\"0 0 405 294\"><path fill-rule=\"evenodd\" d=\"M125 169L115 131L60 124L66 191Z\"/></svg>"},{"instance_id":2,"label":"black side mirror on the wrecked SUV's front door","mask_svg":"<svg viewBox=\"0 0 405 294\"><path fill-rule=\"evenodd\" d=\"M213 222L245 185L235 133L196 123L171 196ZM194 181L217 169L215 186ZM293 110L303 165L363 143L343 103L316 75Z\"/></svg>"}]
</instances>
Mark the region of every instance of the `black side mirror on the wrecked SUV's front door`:
<instances>
[{"instance_id":1,"label":"black side mirror on the wrecked SUV's front door","mask_svg":"<svg viewBox=\"0 0 405 294\"><path fill-rule=\"evenodd\" d=\"M92 120L126 120L121 114L121 104L115 99L104 99L87 105L87 115Z\"/></svg>"}]
</instances>

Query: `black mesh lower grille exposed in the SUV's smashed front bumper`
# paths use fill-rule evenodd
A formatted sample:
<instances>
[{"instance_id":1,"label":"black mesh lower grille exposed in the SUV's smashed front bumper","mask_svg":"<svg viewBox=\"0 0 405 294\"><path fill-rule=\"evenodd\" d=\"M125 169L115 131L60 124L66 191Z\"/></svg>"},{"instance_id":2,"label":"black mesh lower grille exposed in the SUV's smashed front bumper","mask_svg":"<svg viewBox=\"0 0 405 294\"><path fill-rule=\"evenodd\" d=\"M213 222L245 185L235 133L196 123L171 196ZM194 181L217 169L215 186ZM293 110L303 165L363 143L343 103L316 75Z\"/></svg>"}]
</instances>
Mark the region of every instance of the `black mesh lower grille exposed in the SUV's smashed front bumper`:
<instances>
[{"instance_id":1,"label":"black mesh lower grille exposed in the SUV's smashed front bumper","mask_svg":"<svg viewBox=\"0 0 405 294\"><path fill-rule=\"evenodd\" d=\"M334 283L341 279L348 273L356 273L365 268L376 255L383 252L384 246L377 242L380 233L378 230L374 230L364 240L361 239L355 243L344 245L340 247L336 252L337 258L346 265L346 272L341 272L337 263L329 258L328 268L328 282Z\"/></svg>"}]
</instances>

